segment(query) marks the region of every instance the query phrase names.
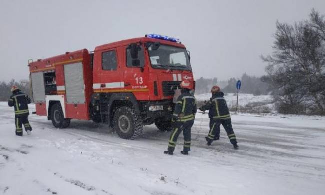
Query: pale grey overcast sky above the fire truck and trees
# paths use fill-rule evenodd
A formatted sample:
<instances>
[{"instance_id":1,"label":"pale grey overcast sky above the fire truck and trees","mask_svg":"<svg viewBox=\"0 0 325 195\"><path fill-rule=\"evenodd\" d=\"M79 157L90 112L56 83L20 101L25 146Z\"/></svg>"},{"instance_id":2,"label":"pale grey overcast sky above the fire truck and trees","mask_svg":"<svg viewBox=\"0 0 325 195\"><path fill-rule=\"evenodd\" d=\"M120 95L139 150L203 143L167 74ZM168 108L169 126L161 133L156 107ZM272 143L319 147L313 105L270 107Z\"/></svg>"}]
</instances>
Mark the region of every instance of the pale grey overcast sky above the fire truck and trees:
<instances>
[{"instance_id":1,"label":"pale grey overcast sky above the fire truck and trees","mask_svg":"<svg viewBox=\"0 0 325 195\"><path fill-rule=\"evenodd\" d=\"M28 59L42 59L158 33L191 52L195 78L261 76L275 22L325 14L306 1L5 1L0 0L0 81L28 79Z\"/></svg>"}]
</instances>

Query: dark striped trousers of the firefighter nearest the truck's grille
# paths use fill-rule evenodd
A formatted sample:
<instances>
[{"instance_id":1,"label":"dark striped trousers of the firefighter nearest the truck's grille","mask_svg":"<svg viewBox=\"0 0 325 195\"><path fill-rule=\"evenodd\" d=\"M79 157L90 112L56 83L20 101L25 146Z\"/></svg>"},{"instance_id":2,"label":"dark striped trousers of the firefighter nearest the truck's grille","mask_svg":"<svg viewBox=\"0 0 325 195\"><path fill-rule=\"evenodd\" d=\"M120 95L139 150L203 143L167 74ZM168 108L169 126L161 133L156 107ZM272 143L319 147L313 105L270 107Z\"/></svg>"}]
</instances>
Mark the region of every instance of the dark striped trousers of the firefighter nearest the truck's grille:
<instances>
[{"instance_id":1,"label":"dark striped trousers of the firefighter nearest the truck's grille","mask_svg":"<svg viewBox=\"0 0 325 195\"><path fill-rule=\"evenodd\" d=\"M173 131L171 132L168 151L174 151L179 134L183 131L184 134L184 151L190 151L190 130L194 124L194 120L186 122L174 122Z\"/></svg>"}]
</instances>

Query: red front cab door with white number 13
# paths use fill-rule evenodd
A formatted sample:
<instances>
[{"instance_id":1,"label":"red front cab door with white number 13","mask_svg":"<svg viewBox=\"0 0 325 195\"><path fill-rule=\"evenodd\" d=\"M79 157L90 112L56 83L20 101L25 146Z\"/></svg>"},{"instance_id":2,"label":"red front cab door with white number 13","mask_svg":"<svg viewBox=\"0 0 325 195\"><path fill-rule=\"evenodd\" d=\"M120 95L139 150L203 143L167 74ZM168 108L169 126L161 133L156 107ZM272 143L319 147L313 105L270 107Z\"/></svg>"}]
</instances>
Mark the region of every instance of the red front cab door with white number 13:
<instances>
[{"instance_id":1,"label":"red front cab door with white number 13","mask_svg":"<svg viewBox=\"0 0 325 195\"><path fill-rule=\"evenodd\" d=\"M126 61L124 65L124 81L125 89L136 94L137 99L148 100L149 93L149 78L148 78L148 65L144 60L144 47L138 45L137 58L131 56L131 48L126 46L124 48Z\"/></svg>"}]
</instances>

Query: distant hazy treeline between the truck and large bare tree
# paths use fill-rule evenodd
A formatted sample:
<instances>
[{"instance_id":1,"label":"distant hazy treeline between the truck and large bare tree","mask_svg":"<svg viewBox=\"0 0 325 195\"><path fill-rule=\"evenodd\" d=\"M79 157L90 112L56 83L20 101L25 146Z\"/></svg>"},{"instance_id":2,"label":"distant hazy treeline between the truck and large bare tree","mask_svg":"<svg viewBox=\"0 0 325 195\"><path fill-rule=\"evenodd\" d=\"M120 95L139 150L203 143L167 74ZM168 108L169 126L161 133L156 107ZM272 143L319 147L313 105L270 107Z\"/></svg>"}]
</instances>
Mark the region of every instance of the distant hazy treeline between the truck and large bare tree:
<instances>
[{"instance_id":1,"label":"distant hazy treeline between the truck and large bare tree","mask_svg":"<svg viewBox=\"0 0 325 195\"><path fill-rule=\"evenodd\" d=\"M208 93L213 85L218 85L224 93L237 93L236 83L241 80L240 93L254 95L267 95L271 93L268 83L261 80L261 77L249 76L244 73L241 78L230 78L227 81L218 81L217 78L199 78L196 80L196 94Z\"/></svg>"}]
</instances>

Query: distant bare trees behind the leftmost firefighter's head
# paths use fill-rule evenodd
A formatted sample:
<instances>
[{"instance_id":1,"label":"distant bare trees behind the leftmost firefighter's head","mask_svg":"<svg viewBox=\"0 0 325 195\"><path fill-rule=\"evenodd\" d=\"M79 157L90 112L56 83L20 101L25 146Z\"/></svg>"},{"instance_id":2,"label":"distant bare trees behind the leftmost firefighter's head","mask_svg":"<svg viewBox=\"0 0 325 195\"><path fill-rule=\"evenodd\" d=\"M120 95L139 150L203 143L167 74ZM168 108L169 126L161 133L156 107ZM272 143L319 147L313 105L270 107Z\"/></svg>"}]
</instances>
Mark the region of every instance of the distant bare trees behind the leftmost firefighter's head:
<instances>
[{"instance_id":1,"label":"distant bare trees behind the leftmost firefighter's head","mask_svg":"<svg viewBox=\"0 0 325 195\"><path fill-rule=\"evenodd\" d=\"M21 80L21 81L15 81L12 79L9 82L0 82L0 101L8 101L11 93L11 87L17 86L22 92L26 94L30 94L29 90L29 81L28 80Z\"/></svg>"}]
</instances>

